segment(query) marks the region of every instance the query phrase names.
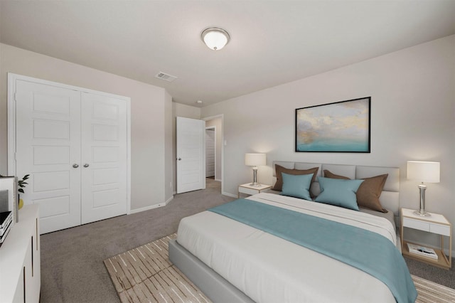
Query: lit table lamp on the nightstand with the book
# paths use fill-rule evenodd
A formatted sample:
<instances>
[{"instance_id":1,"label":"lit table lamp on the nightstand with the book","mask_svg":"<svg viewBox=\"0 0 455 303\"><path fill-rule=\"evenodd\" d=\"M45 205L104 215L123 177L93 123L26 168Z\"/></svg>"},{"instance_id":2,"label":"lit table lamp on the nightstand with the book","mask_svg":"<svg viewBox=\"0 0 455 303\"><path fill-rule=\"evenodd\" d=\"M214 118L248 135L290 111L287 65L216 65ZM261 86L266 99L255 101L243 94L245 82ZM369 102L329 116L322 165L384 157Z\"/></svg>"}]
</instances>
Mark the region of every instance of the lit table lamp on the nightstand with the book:
<instances>
[{"instance_id":1,"label":"lit table lamp on the nightstand with the book","mask_svg":"<svg viewBox=\"0 0 455 303\"><path fill-rule=\"evenodd\" d=\"M429 161L407 161L407 179L418 180L422 184L419 184L420 190L420 209L414 211L417 216L432 216L425 211L425 190L427 183L439 183L439 162Z\"/></svg>"}]
</instances>

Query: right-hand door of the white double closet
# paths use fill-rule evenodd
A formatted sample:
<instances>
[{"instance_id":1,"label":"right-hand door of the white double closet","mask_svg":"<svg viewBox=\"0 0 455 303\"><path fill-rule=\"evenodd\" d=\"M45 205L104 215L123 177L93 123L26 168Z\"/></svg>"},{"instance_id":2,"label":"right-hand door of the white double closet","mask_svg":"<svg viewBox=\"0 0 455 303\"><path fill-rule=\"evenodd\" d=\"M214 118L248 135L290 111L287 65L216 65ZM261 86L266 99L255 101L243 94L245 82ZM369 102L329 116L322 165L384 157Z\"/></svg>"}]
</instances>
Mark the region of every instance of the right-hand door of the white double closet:
<instances>
[{"instance_id":1,"label":"right-hand door of the white double closet","mask_svg":"<svg viewBox=\"0 0 455 303\"><path fill-rule=\"evenodd\" d=\"M127 213L127 102L82 92L82 224Z\"/></svg>"}]
</instances>

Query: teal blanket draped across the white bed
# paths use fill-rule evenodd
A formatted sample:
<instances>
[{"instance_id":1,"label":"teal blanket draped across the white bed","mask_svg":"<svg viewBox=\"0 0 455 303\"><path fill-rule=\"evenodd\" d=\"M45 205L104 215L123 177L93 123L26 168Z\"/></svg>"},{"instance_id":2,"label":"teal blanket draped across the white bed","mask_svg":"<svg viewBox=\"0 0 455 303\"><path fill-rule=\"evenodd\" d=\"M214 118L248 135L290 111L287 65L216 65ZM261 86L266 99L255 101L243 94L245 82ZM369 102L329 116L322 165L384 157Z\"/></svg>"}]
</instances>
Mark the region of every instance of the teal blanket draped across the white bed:
<instances>
[{"instance_id":1,"label":"teal blanket draped across the white bed","mask_svg":"<svg viewBox=\"0 0 455 303\"><path fill-rule=\"evenodd\" d=\"M398 303L415 302L417 298L417 290L401 253L378 233L247 199L208 211L367 272L384 282Z\"/></svg>"}]
</instances>

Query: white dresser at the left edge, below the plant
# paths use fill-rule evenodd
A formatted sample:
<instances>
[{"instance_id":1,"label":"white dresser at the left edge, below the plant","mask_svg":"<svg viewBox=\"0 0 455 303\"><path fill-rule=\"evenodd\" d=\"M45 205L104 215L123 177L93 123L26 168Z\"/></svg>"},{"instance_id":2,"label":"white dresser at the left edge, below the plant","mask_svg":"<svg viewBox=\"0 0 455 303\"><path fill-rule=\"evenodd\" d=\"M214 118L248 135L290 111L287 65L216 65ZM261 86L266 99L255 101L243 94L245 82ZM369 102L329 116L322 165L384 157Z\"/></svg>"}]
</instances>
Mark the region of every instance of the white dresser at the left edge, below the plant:
<instances>
[{"instance_id":1,"label":"white dresser at the left edge, below the plant","mask_svg":"<svg viewBox=\"0 0 455 303\"><path fill-rule=\"evenodd\" d=\"M41 289L38 205L23 206L0 247L0 302L39 302Z\"/></svg>"}]
</instances>

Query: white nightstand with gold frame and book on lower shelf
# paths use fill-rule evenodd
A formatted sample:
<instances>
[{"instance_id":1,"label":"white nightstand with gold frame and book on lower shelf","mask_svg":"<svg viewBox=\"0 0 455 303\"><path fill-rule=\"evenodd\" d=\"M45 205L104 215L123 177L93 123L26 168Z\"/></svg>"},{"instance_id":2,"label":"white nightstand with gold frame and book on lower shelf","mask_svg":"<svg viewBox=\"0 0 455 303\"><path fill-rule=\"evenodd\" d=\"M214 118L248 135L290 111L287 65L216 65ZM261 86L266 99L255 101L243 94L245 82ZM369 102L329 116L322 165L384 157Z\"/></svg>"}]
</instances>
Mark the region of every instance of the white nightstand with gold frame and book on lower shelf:
<instances>
[{"instance_id":1,"label":"white nightstand with gold frame and book on lower shelf","mask_svg":"<svg viewBox=\"0 0 455 303\"><path fill-rule=\"evenodd\" d=\"M430 265L434 265L449 270L451 268L452 261L451 223L444 216L439 215L437 213L432 213L432 216L430 217L422 217L414 215L414 210L407 208L401 208L400 219L401 219L400 238L402 254L412 259L426 262ZM410 251L407 248L407 241L405 241L403 236L404 228L424 230L427 231L428 233L435 233L437 235L440 235L441 248L434 249L434 251L438 255L438 259L434 260L430 257L422 257L420 255L410 253ZM449 257L447 257L446 254L444 253L444 237L449 237Z\"/></svg>"}]
</instances>

